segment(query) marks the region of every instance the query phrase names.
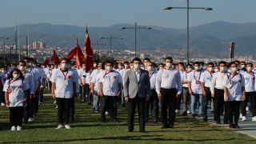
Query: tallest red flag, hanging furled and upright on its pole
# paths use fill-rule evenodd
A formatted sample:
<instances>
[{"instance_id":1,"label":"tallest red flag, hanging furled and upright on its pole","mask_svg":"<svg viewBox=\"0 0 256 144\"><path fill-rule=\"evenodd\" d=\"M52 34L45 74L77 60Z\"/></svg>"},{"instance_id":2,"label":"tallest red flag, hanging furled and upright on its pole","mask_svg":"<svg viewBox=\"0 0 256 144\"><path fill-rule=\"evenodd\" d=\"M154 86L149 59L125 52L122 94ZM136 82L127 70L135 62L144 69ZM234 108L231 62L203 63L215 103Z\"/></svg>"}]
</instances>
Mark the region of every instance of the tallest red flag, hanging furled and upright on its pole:
<instances>
[{"instance_id":1,"label":"tallest red flag, hanging furled and upright on its pole","mask_svg":"<svg viewBox=\"0 0 256 144\"><path fill-rule=\"evenodd\" d=\"M85 41L86 41L86 43L85 43L85 51L86 51L86 61L85 61L86 69L85 69L85 71L88 72L90 70L90 68L92 66L94 66L94 61L93 61L94 51L92 50L92 48L90 46L90 36L88 34L87 27L86 27L86 40Z\"/></svg>"}]
</instances>

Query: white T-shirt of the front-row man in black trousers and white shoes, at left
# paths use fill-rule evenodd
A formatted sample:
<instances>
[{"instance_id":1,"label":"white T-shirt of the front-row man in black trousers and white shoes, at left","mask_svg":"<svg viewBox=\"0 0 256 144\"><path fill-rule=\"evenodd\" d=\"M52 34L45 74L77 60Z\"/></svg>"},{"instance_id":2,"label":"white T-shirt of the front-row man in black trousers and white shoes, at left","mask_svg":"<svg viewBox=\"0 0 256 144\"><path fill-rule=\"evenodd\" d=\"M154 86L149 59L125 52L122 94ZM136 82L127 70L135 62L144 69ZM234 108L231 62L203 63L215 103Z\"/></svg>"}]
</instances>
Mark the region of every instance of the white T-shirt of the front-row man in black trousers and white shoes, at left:
<instances>
[{"instance_id":1,"label":"white T-shirt of the front-row man in black trousers and white shoes, at left","mask_svg":"<svg viewBox=\"0 0 256 144\"><path fill-rule=\"evenodd\" d=\"M66 76L67 85L65 85L64 78ZM76 82L77 76L74 74L74 71L68 70L63 72L59 69L54 70L52 75L52 81L56 84L55 94L56 98L72 98L74 94L73 82Z\"/></svg>"}]
</instances>

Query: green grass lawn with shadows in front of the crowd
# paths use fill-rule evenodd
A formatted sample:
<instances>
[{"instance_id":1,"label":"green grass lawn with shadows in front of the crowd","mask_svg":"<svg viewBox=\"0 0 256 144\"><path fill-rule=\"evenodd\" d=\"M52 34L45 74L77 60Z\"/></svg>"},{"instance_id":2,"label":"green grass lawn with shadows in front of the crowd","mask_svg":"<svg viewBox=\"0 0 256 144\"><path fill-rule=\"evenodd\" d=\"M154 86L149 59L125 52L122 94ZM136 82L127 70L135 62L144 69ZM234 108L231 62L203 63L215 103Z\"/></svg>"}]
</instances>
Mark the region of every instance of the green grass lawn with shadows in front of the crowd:
<instances>
[{"instance_id":1,"label":"green grass lawn with shadows in front of the crowd","mask_svg":"<svg viewBox=\"0 0 256 144\"><path fill-rule=\"evenodd\" d=\"M138 132L138 116L134 132L127 132L126 108L118 105L120 122L100 123L100 114L95 114L86 103L75 103L75 123L70 123L71 130L56 130L57 110L54 100L45 97L39 106L34 122L22 125L22 131L10 131L9 110L0 107L0 143L254 143L256 140L244 134L220 126L210 125L189 117L177 116L174 129L161 129L161 124L146 124L148 133Z\"/></svg>"}]
</instances>

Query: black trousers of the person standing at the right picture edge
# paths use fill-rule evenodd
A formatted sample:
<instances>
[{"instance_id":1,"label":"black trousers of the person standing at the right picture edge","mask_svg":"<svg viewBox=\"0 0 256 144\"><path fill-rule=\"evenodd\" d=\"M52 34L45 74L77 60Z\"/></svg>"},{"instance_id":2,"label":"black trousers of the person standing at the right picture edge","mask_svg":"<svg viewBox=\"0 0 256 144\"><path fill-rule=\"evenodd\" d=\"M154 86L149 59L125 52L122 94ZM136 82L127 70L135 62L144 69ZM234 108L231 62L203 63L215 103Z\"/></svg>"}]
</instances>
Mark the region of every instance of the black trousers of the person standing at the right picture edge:
<instances>
[{"instance_id":1,"label":"black trousers of the person standing at the right picture edge","mask_svg":"<svg viewBox=\"0 0 256 144\"><path fill-rule=\"evenodd\" d=\"M253 117L256 116L256 92L246 92L246 100L242 101L242 116L246 116L246 106L250 98Z\"/></svg>"}]
</instances>

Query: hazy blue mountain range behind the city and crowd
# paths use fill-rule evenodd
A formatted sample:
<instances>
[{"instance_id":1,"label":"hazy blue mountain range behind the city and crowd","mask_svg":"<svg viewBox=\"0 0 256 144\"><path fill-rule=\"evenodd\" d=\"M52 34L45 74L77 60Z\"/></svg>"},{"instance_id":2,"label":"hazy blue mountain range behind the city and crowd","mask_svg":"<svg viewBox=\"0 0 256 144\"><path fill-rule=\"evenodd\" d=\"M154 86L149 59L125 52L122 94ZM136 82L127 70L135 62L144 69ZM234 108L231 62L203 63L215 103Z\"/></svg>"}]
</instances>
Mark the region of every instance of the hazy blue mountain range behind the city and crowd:
<instances>
[{"instance_id":1,"label":"hazy blue mountain range behind the city and crowd","mask_svg":"<svg viewBox=\"0 0 256 144\"><path fill-rule=\"evenodd\" d=\"M90 40L100 49L134 50L134 30L120 30L120 27L134 27L130 24L115 24L109 27L89 27ZM139 26L138 26L139 27ZM144 27L144 26L143 26ZM150 26L151 30L137 30L137 50L143 53L154 52L162 55L177 53L186 56L186 29ZM14 26L0 28L0 37L10 38L6 42L14 43ZM46 42L47 46L74 47L76 38L83 47L85 27L52 25L49 23L29 24L30 44L36 41ZM19 26L20 44L26 45L26 24ZM101 37L105 37L100 39ZM115 38L123 38L115 39ZM2 40L0 39L0 42ZM252 55L256 53L256 22L230 23L212 22L190 27L190 58L227 58L229 42L235 42L234 55ZM168 52L169 51L169 52Z\"/></svg>"}]
</instances>

